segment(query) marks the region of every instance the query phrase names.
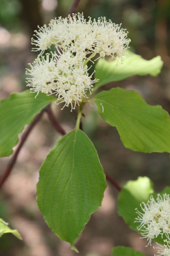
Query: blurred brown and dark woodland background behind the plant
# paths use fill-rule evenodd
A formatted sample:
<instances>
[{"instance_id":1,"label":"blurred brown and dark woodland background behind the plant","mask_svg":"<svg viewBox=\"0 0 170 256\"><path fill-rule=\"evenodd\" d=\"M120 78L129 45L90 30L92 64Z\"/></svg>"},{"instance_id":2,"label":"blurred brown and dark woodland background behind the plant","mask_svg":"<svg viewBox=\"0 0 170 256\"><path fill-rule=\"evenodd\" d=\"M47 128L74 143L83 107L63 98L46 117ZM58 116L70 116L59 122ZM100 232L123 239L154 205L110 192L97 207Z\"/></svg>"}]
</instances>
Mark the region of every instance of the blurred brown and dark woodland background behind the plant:
<instances>
[{"instance_id":1,"label":"blurred brown and dark woodland background behind the plant","mask_svg":"<svg viewBox=\"0 0 170 256\"><path fill-rule=\"evenodd\" d=\"M0 0L0 97L22 92L25 68L36 55L31 52L31 37L37 25L48 24L56 16L66 16L73 1L69 0ZM162 56L164 67L158 77L130 77L105 86L120 86L142 94L148 104L162 105L170 113L169 0L82 0L77 11L98 18L106 16L122 23L129 31L130 49L147 60ZM74 128L76 113L69 108L53 106L56 118L69 132ZM106 172L120 185L138 176L154 181L156 191L169 185L169 154L142 154L126 149L115 127L98 115L95 105L84 108L83 130L91 138ZM74 256L70 245L60 241L48 228L36 205L36 183L39 168L60 135L44 115L20 151L12 174L0 193L0 217L18 229L23 241L11 234L0 239L0 256ZM9 158L0 159L0 175ZM154 255L152 246L131 231L117 216L118 192L111 184L105 191L102 207L92 214L75 246L81 256L108 256L113 246L125 245Z\"/></svg>"}]
</instances>

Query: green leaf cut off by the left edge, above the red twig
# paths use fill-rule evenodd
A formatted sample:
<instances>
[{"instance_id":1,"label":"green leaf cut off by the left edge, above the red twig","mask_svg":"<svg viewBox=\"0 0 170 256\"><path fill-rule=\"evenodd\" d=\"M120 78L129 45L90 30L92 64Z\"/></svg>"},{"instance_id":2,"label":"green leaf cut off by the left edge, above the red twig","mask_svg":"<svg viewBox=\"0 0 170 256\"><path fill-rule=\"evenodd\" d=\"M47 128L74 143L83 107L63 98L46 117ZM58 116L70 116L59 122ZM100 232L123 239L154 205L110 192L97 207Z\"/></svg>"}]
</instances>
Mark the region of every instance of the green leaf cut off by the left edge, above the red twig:
<instances>
[{"instance_id":1,"label":"green leaf cut off by the left edge, above the red twig","mask_svg":"<svg viewBox=\"0 0 170 256\"><path fill-rule=\"evenodd\" d=\"M18 134L24 126L31 123L33 117L46 105L55 100L53 96L25 90L12 93L10 98L3 99L0 104L0 157L12 154L12 148L18 143Z\"/></svg>"}]
</instances>

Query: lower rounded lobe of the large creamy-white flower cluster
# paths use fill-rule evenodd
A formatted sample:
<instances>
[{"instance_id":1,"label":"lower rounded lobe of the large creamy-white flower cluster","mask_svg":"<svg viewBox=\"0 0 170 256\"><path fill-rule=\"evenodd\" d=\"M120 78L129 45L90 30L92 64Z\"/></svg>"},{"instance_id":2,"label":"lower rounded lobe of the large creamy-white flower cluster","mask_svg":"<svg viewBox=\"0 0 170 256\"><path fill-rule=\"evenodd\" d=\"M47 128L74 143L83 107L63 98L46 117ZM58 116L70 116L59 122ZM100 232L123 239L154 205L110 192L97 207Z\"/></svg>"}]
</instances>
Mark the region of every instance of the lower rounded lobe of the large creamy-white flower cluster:
<instances>
[{"instance_id":1,"label":"lower rounded lobe of the large creamy-white flower cluster","mask_svg":"<svg viewBox=\"0 0 170 256\"><path fill-rule=\"evenodd\" d=\"M82 101L81 97L86 96L86 90L92 89L92 84L97 80L92 80L88 75L87 65L83 65L83 60L76 56L72 56L70 51L63 52L62 55L52 53L49 55L38 57L33 64L29 64L31 69L27 69L26 74L32 76L27 78L28 85L31 90L41 91L46 94L56 94L58 100L56 103L65 102L65 106L71 104L71 111L76 103Z\"/></svg>"}]
</instances>

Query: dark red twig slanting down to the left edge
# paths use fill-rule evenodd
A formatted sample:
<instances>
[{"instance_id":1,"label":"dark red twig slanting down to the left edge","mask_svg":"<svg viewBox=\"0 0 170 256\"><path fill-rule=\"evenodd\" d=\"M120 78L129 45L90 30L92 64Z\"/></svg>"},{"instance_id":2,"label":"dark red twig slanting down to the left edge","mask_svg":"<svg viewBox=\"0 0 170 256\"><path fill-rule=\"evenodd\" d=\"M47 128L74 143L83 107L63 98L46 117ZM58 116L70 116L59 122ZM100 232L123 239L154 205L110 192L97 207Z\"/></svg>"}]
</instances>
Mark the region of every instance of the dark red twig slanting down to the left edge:
<instances>
[{"instance_id":1,"label":"dark red twig slanting down to the left edge","mask_svg":"<svg viewBox=\"0 0 170 256\"><path fill-rule=\"evenodd\" d=\"M37 114L35 116L35 118L33 119L32 123L27 127L27 129L25 130L25 132L22 135L22 138L19 142L18 148L16 149L14 155L12 155L12 158L10 160L10 162L8 163L5 172L3 173L3 175L0 178L0 188L2 187L3 183L5 182L5 180L7 179L8 175L10 175L10 172L12 170L12 167L14 166L15 162L16 162L16 158L19 154L20 149L22 148L25 140L27 139L30 131L32 130L32 128L35 126L35 124L39 121L39 119L41 118L42 114L45 112L45 109L42 109L41 112L39 114Z\"/></svg>"}]
</instances>

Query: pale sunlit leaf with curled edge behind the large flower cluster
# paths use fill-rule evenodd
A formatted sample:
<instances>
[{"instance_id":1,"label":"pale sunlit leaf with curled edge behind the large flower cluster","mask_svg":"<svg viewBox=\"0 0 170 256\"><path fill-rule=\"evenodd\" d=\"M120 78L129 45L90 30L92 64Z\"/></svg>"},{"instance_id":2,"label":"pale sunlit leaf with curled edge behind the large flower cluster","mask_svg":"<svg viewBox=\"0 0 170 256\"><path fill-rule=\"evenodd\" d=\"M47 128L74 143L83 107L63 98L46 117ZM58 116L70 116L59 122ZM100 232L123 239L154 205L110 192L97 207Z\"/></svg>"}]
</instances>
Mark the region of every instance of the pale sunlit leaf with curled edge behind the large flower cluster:
<instances>
[{"instance_id":1,"label":"pale sunlit leaf with curled edge behind the large flower cluster","mask_svg":"<svg viewBox=\"0 0 170 256\"><path fill-rule=\"evenodd\" d=\"M95 78L99 79L96 83L96 88L112 81L119 81L126 79L126 77L139 76L157 76L163 67L163 61L160 56L152 60L145 60L140 55L127 51L132 56L124 56L123 64L119 60L106 61L100 59L95 67Z\"/></svg>"}]
</instances>

